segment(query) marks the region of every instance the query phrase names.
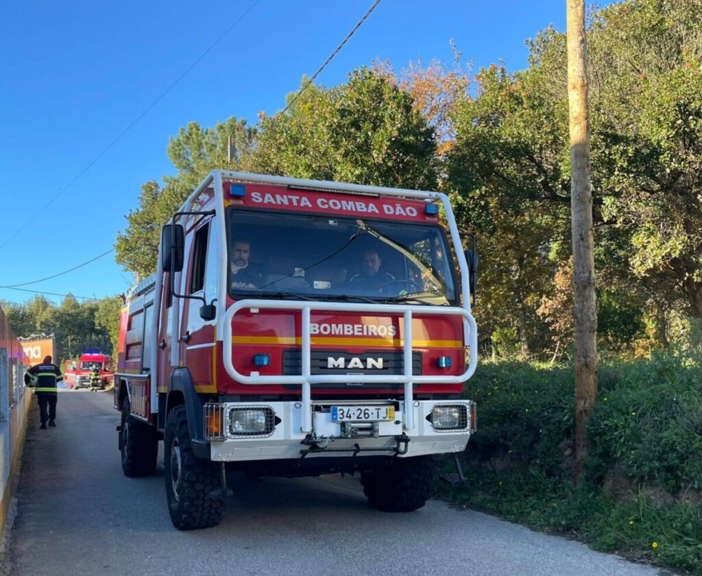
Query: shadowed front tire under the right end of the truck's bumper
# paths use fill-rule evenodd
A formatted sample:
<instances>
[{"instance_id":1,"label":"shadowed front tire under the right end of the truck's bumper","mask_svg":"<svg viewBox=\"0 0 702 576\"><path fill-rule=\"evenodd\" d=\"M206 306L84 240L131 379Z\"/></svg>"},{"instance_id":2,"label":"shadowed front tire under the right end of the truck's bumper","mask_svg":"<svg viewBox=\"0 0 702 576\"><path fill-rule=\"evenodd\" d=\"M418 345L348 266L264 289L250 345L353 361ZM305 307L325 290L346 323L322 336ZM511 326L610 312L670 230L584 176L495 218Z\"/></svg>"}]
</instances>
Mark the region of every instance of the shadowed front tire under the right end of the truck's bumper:
<instances>
[{"instance_id":1,"label":"shadowed front tire under the right end of the truck's bumper","mask_svg":"<svg viewBox=\"0 0 702 576\"><path fill-rule=\"evenodd\" d=\"M385 512L411 512L434 495L437 464L431 456L395 458L390 466L361 472L363 493Z\"/></svg>"}]
</instances>

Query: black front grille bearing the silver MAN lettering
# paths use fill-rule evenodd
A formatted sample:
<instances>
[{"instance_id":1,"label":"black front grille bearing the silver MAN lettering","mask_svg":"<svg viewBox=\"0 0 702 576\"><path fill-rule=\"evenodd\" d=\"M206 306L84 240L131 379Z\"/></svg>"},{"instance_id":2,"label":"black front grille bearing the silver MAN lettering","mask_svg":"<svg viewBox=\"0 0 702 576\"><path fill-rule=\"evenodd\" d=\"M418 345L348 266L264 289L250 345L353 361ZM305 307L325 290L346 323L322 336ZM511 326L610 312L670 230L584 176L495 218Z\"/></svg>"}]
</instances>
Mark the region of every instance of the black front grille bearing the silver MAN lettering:
<instances>
[{"instance_id":1,"label":"black front grille bearing the silver MAN lettering","mask_svg":"<svg viewBox=\"0 0 702 576\"><path fill-rule=\"evenodd\" d=\"M300 350L286 350L283 353L283 374L294 376L302 372ZM351 354L345 351L312 351L310 355L312 374L404 374L404 353L364 352ZM412 373L422 373L422 354L412 353Z\"/></svg>"}]
</instances>

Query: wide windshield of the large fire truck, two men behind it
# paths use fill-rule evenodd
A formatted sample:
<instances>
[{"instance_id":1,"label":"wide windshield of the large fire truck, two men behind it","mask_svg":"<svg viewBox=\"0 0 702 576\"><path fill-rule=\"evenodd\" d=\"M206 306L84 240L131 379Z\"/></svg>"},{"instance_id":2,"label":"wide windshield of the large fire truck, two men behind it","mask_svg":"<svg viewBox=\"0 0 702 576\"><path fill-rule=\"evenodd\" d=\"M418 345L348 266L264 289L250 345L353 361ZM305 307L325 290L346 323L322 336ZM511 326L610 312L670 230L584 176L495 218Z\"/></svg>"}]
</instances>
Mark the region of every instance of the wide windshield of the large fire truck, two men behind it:
<instances>
[{"instance_id":1,"label":"wide windshield of the large fire truck, two men behind it","mask_svg":"<svg viewBox=\"0 0 702 576\"><path fill-rule=\"evenodd\" d=\"M233 297L456 302L438 225L230 209L227 240Z\"/></svg>"}]
</instances>

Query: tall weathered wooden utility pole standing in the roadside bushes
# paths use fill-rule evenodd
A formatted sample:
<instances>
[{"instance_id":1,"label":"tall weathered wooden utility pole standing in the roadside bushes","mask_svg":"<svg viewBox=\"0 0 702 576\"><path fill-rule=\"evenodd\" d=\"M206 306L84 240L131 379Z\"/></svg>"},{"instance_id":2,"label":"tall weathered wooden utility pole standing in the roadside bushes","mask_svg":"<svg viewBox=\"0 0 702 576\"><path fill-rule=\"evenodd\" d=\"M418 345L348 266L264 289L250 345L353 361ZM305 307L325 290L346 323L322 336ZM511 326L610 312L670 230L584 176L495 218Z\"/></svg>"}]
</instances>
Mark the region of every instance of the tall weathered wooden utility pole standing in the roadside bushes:
<instances>
[{"instance_id":1,"label":"tall weathered wooden utility pole standing in the roadside bushes","mask_svg":"<svg viewBox=\"0 0 702 576\"><path fill-rule=\"evenodd\" d=\"M588 420L597 397L597 312L592 255L590 112L588 110L585 0L566 0L568 105L571 144L571 235L575 303L575 462L578 481L588 454Z\"/></svg>"}]
</instances>

